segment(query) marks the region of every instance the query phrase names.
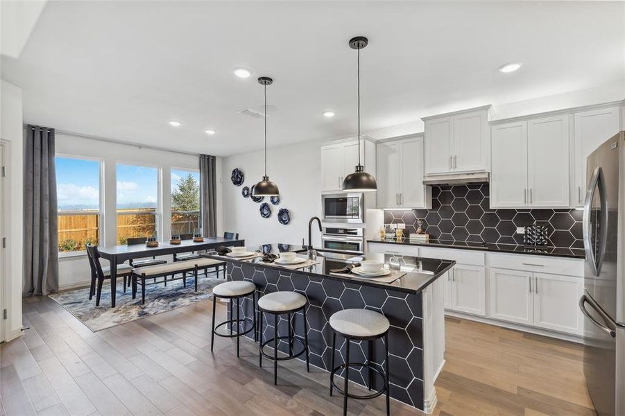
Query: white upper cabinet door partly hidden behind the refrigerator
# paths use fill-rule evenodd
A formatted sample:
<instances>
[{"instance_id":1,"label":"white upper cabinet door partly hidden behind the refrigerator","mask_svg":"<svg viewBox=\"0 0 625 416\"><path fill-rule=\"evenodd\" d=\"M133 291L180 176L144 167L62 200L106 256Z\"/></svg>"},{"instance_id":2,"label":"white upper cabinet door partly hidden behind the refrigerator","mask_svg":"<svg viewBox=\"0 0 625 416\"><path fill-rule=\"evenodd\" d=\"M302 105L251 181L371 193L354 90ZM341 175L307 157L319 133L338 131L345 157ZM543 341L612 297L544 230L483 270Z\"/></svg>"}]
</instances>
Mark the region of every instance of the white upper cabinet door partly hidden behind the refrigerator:
<instances>
[{"instance_id":1,"label":"white upper cabinet door partly hidden behind the refrigerator","mask_svg":"<svg viewBox=\"0 0 625 416\"><path fill-rule=\"evenodd\" d=\"M573 205L581 207L586 194L586 158L600 144L619 132L619 107L575 114L575 187Z\"/></svg>"}]
</instances>

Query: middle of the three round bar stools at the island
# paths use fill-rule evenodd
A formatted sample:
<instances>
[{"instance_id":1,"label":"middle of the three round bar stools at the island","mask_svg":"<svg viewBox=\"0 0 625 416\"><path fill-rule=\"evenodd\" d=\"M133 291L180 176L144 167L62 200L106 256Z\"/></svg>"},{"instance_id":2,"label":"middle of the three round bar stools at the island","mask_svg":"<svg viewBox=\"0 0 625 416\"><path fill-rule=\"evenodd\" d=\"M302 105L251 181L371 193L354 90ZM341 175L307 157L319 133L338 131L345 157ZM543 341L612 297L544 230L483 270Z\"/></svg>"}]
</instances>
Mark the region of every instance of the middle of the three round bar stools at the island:
<instances>
[{"instance_id":1,"label":"middle of the three round bar stools at the island","mask_svg":"<svg viewBox=\"0 0 625 416\"><path fill-rule=\"evenodd\" d=\"M308 324L306 322L306 297L296 292L273 292L268 295L264 295L258 300L258 313L259 313L259 331L260 331L260 344L259 344L259 367L263 366L263 356L270 360L273 360L273 384L277 385L277 362L284 360L291 360L306 353L306 371L310 372L310 363L308 361ZM293 335L293 321L291 320L291 314L302 311L304 314L304 340L301 337ZM263 343L263 313L270 313L273 315L273 338L266 340ZM277 334L277 318L279 315L286 313L289 320L289 336L278 336ZM277 345L280 340L287 340L289 343L289 355L286 357L277 356ZM293 353L293 341L298 341L302 345L302 350L296 354ZM273 356L265 354L263 347L268 343L273 342Z\"/></svg>"}]
</instances>

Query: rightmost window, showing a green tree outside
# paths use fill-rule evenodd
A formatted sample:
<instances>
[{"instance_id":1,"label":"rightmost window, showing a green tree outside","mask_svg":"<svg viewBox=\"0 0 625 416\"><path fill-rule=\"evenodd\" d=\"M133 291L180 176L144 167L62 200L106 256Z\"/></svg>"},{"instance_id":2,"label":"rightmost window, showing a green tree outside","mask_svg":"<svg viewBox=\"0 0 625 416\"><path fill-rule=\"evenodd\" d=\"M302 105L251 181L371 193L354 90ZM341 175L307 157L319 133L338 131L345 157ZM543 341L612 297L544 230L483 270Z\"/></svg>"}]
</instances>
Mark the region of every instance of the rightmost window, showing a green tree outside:
<instances>
[{"instance_id":1,"label":"rightmost window, showing a green tree outside","mask_svg":"<svg viewBox=\"0 0 625 416\"><path fill-rule=\"evenodd\" d=\"M200 227L200 173L171 169L171 235Z\"/></svg>"}]
</instances>

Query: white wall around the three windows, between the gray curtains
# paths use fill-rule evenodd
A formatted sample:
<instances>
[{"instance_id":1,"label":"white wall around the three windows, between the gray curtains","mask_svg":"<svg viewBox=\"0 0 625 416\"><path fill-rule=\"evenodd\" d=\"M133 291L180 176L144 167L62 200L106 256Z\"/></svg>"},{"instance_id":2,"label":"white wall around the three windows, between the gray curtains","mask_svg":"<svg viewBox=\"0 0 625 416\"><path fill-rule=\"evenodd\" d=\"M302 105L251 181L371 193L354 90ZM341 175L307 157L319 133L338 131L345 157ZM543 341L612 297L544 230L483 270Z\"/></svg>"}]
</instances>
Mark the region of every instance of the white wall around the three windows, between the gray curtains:
<instances>
[{"instance_id":1,"label":"white wall around the three windows, between the gray curtains","mask_svg":"<svg viewBox=\"0 0 625 416\"><path fill-rule=\"evenodd\" d=\"M53 126L50 126L53 127ZM74 155L83 157L97 157L104 164L104 194L105 194L105 218L103 218L103 244L115 245L117 239L116 207L117 180L115 177L115 164L118 162L149 164L162 167L162 189L171 189L171 168L198 169L199 159L195 155L157 150L140 146L111 143L78 135L56 135L56 153L59 155ZM221 158L217 158L217 234L223 233L221 204ZM171 200L169 192L160 196L162 200L162 239L169 240L171 229ZM171 256L168 259L171 261ZM74 257L61 257L59 261L59 288L67 289L89 284L89 264L86 254Z\"/></svg>"}]
</instances>

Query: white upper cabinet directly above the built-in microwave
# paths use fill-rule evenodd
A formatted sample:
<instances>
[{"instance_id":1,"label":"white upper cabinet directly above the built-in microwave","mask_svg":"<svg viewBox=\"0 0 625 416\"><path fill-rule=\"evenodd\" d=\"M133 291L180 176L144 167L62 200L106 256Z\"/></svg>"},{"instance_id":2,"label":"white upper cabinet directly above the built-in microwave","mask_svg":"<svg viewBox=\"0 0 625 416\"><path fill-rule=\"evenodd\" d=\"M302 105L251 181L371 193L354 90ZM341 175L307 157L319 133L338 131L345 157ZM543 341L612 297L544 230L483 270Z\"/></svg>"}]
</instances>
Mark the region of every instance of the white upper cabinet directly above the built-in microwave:
<instances>
[{"instance_id":1,"label":"white upper cabinet directly above the built-in microwave","mask_svg":"<svg viewBox=\"0 0 625 416\"><path fill-rule=\"evenodd\" d=\"M370 137L361 137L361 163L365 171L375 172L375 144ZM342 192L343 180L358 164L356 139L333 141L321 146L321 191Z\"/></svg>"}]
</instances>

